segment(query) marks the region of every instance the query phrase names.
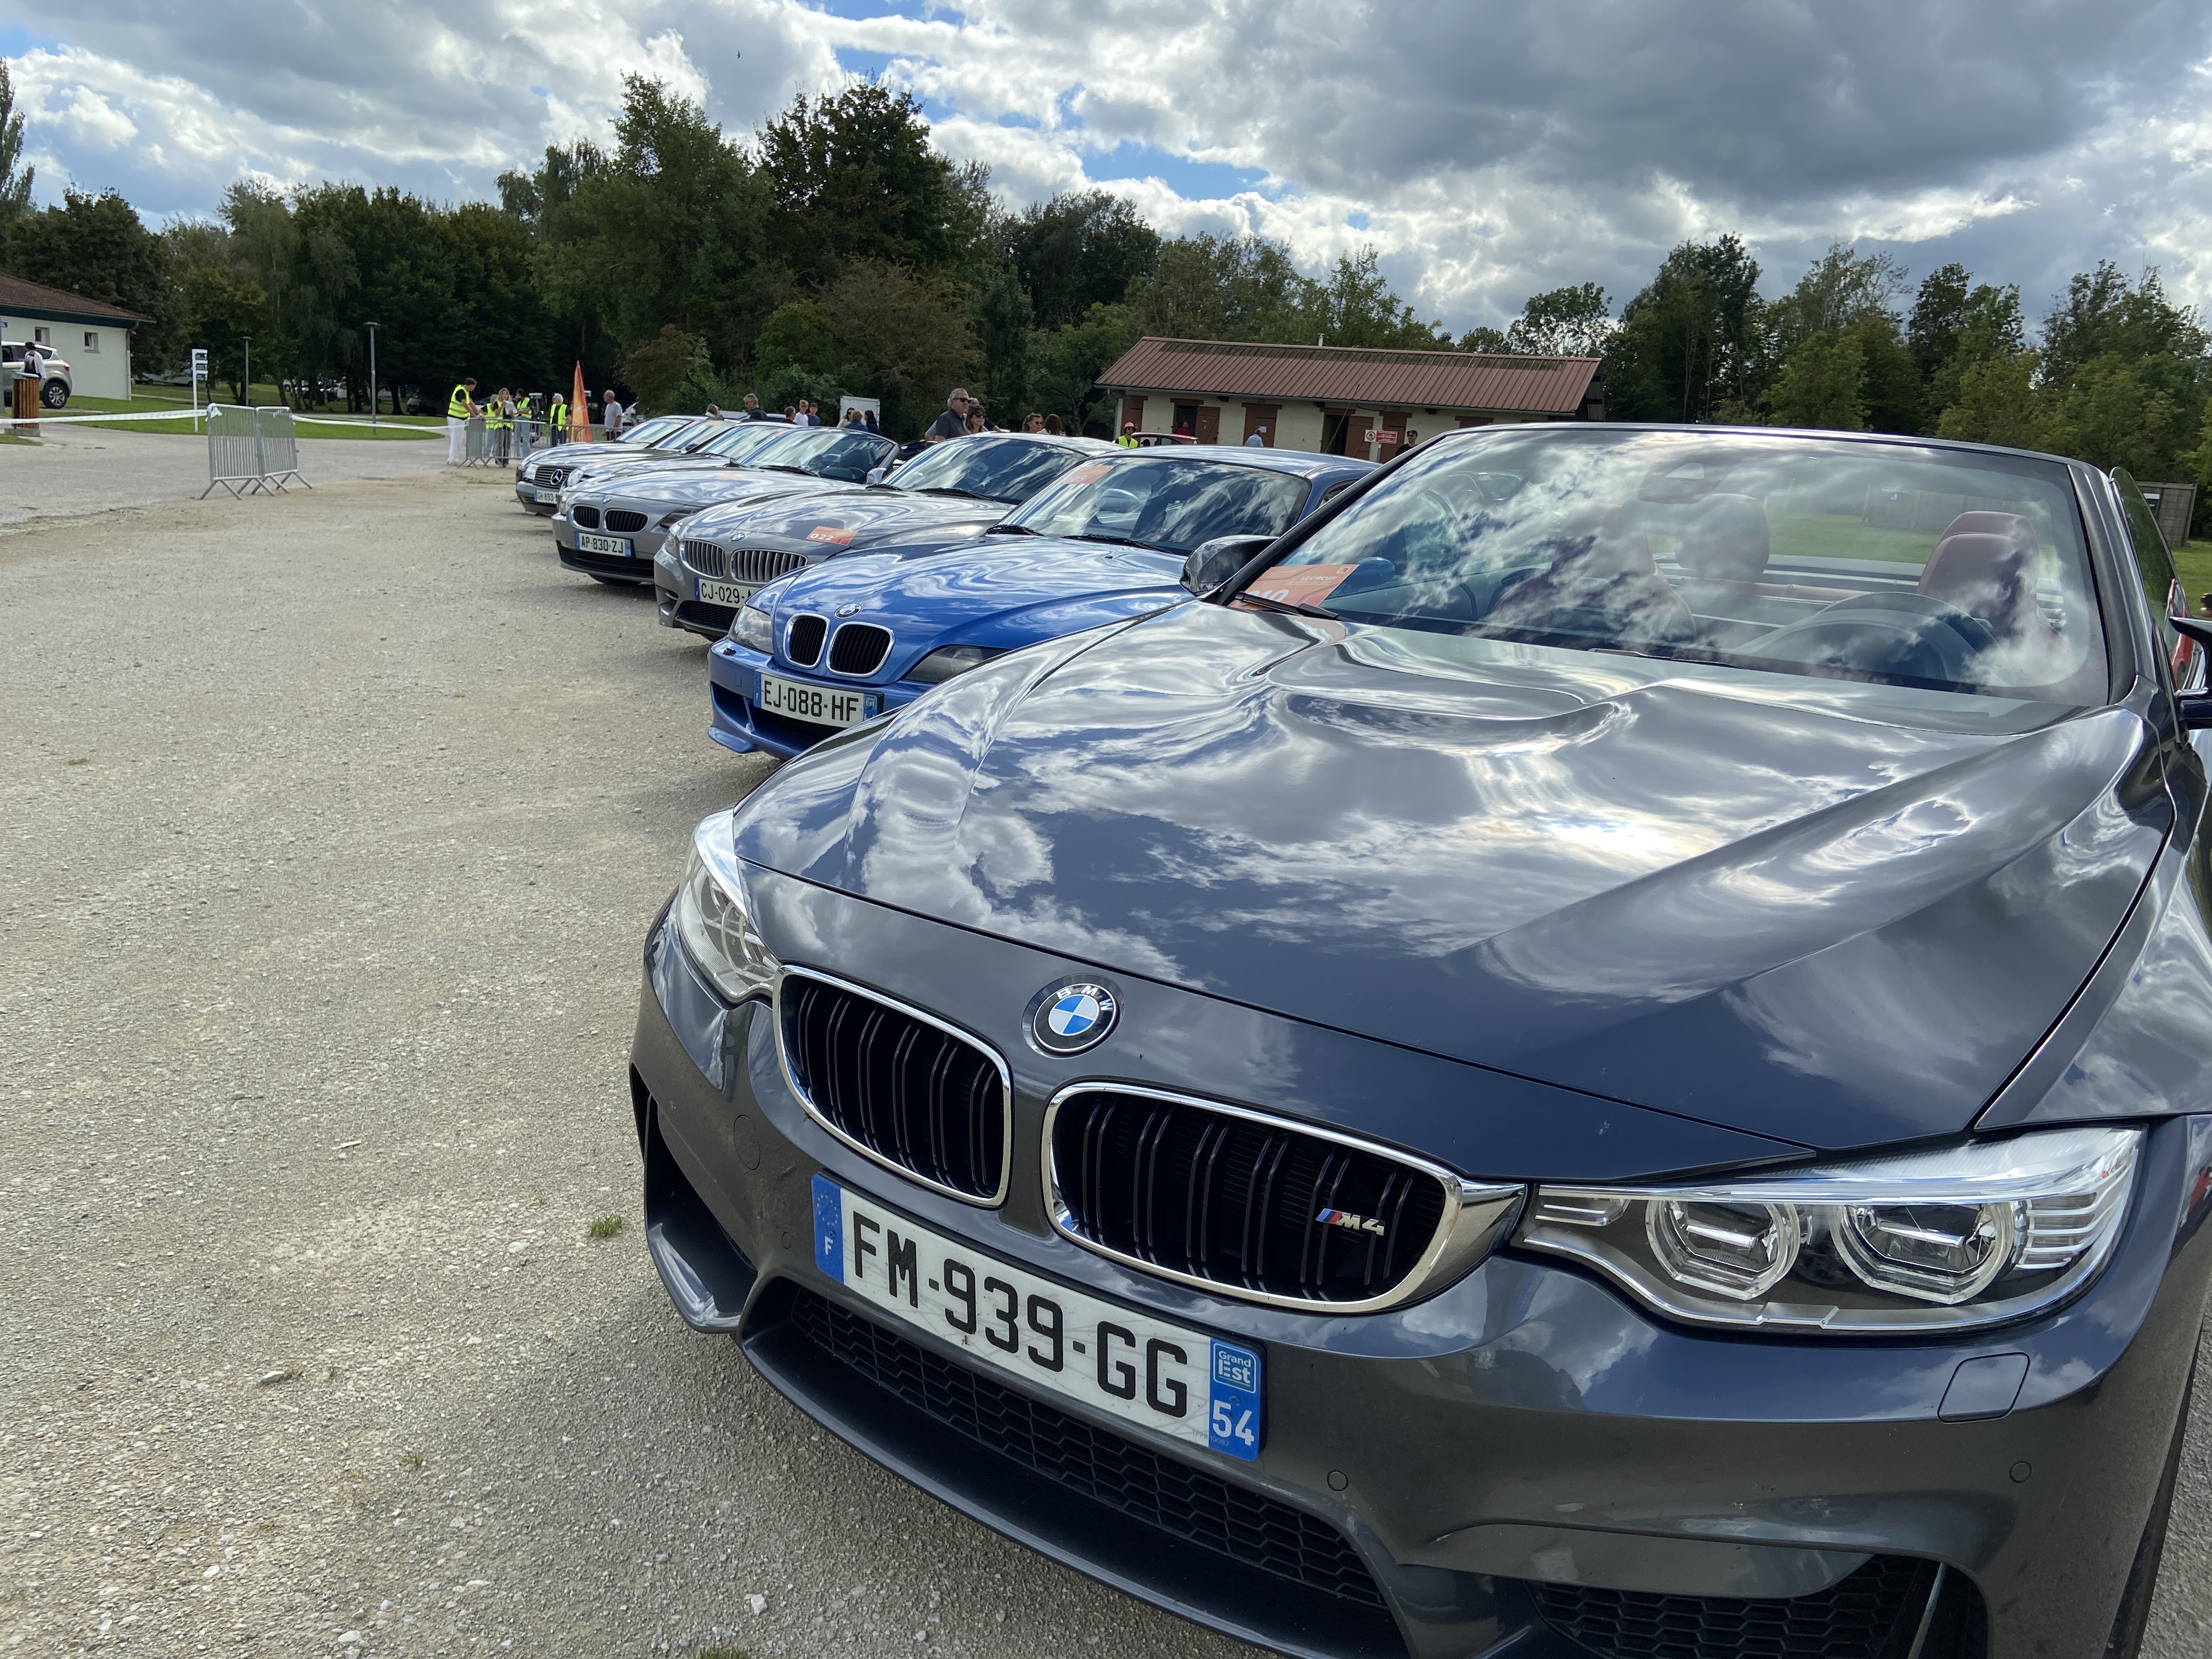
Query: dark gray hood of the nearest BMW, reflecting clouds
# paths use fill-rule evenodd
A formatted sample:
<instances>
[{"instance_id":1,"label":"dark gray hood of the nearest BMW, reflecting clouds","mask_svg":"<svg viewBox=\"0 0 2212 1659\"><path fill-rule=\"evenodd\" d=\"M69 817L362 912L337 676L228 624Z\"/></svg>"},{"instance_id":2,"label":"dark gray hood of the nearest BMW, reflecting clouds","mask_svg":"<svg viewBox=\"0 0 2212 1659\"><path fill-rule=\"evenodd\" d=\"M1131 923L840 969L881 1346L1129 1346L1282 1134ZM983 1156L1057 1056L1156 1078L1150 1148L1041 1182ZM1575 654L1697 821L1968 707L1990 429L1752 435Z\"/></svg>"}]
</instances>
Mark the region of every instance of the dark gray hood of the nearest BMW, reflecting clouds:
<instances>
[{"instance_id":1,"label":"dark gray hood of the nearest BMW, reflecting clouds","mask_svg":"<svg viewBox=\"0 0 2212 1659\"><path fill-rule=\"evenodd\" d=\"M1854 1148L1964 1130L2157 856L2148 728L2062 714L1190 604L962 675L737 825L1106 971Z\"/></svg>"}]
</instances>

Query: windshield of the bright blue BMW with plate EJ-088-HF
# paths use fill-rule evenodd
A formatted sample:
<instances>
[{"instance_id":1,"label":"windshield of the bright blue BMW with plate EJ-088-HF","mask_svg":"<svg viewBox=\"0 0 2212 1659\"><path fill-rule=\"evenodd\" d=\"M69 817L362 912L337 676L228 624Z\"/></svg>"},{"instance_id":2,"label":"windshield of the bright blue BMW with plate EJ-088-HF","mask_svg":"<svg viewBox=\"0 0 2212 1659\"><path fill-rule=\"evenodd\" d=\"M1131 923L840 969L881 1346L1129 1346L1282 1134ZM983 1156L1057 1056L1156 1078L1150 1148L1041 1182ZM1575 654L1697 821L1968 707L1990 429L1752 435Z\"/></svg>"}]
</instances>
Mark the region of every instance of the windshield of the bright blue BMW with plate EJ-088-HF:
<instances>
[{"instance_id":1,"label":"windshield of the bright blue BMW with plate EJ-088-HF","mask_svg":"<svg viewBox=\"0 0 2212 1659\"><path fill-rule=\"evenodd\" d=\"M1307 489L1296 473L1161 451L1088 460L1009 522L1037 535L1188 553L1217 535L1281 535Z\"/></svg>"}]
</instances>

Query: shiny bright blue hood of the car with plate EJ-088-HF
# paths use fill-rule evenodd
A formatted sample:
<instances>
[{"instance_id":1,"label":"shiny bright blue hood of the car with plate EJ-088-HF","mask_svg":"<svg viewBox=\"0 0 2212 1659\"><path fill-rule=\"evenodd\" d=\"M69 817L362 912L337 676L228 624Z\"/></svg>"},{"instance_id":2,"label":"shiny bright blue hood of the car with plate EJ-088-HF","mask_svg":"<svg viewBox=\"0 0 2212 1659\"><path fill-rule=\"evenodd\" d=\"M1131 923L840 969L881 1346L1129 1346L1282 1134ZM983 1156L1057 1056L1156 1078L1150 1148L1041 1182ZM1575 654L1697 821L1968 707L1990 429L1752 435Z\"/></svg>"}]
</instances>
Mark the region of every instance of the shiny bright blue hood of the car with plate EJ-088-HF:
<instances>
[{"instance_id":1,"label":"shiny bright blue hood of the car with plate EJ-088-HF","mask_svg":"<svg viewBox=\"0 0 2212 1659\"><path fill-rule=\"evenodd\" d=\"M1026 646L1097 622L1188 599L1183 560L1139 546L1057 538L989 538L958 560L867 553L832 560L792 582L779 615L818 611L874 622L900 641L902 659L933 644Z\"/></svg>"}]
</instances>

